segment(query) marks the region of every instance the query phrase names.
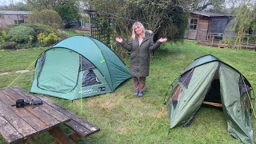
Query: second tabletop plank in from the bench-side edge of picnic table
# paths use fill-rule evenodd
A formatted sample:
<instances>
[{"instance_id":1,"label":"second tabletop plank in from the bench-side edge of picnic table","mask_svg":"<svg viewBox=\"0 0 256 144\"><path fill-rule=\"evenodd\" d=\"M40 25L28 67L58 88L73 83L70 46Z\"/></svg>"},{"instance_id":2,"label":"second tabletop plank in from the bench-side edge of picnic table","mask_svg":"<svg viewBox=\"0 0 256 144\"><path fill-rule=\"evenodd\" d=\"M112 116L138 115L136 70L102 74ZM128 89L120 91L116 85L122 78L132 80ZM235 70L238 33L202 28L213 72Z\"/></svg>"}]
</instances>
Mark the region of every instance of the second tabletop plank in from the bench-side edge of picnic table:
<instances>
[{"instance_id":1,"label":"second tabletop plank in from the bench-side edge of picnic table","mask_svg":"<svg viewBox=\"0 0 256 144\"><path fill-rule=\"evenodd\" d=\"M21 98L21 95L15 93L10 88L6 88L6 89L2 90L2 92L4 92L6 95L8 95L10 98L14 99L15 101L17 99ZM21 109L21 108L19 108L19 109ZM34 117L37 117L42 122L46 123L46 125L49 127L49 129L51 126L57 126L57 125L61 124L61 122L59 122L58 120L56 120L55 118L53 118L52 116L47 114L45 111L39 109L36 106L24 106L24 108L22 108L22 109L26 109L26 110L30 111L31 114L34 114ZM45 129L45 130L49 130L49 129Z\"/></svg>"}]
</instances>

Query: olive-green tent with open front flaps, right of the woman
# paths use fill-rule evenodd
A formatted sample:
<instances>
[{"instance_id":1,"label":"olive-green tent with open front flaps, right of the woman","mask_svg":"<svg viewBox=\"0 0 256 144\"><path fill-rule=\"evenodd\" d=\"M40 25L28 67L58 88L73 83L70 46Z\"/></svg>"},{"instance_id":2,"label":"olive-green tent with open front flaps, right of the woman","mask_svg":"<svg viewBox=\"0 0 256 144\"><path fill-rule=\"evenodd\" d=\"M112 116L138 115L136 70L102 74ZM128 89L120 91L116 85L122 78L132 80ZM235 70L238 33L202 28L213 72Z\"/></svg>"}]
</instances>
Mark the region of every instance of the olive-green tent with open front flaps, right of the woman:
<instances>
[{"instance_id":1,"label":"olive-green tent with open front flaps, right of the woman","mask_svg":"<svg viewBox=\"0 0 256 144\"><path fill-rule=\"evenodd\" d=\"M194 60L174 81L167 106L170 129L188 126L202 104L222 106L230 135L254 143L250 118L254 97L250 82L232 66L213 55Z\"/></svg>"}]
</instances>

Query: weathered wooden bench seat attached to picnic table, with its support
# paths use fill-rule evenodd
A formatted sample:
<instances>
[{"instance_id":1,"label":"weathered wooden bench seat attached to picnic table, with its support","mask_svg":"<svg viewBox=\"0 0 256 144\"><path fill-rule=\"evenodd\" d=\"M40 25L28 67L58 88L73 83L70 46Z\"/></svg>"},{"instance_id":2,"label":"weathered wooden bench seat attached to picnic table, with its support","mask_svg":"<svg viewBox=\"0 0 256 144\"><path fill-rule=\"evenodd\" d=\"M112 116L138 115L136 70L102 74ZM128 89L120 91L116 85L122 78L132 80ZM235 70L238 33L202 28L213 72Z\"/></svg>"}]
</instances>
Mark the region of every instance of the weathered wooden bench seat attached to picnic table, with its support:
<instances>
[{"instance_id":1,"label":"weathered wooden bench seat attached to picnic table, with its support","mask_svg":"<svg viewBox=\"0 0 256 144\"><path fill-rule=\"evenodd\" d=\"M70 127L73 130L72 133L68 134L69 137L75 142L80 138L85 138L90 134L94 134L98 132L100 129L97 126L94 126L90 122L78 117L78 115L71 113L70 111L62 108L62 106L58 106L58 104L53 103L50 99L44 96L38 96L38 98L42 99L43 102L49 103L51 106L54 106L55 109L58 109L62 114L71 118L70 122L66 122L65 125Z\"/></svg>"}]
</instances>

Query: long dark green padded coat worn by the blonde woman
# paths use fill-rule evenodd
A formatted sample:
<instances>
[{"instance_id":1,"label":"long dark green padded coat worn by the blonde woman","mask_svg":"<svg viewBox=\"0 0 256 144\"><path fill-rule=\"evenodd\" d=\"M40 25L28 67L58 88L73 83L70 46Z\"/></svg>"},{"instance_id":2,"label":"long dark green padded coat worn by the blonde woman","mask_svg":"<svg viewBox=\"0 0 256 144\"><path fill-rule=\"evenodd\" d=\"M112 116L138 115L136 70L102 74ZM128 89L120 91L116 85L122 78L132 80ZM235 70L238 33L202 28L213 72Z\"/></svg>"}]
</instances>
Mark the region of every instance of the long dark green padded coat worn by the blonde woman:
<instances>
[{"instance_id":1,"label":"long dark green padded coat worn by the blonde woman","mask_svg":"<svg viewBox=\"0 0 256 144\"><path fill-rule=\"evenodd\" d=\"M129 42L121 42L121 46L130 51L130 74L134 77L146 77L150 70L150 51L156 50L161 42L154 43L150 33L146 31L141 46L136 38L130 38Z\"/></svg>"}]
</instances>

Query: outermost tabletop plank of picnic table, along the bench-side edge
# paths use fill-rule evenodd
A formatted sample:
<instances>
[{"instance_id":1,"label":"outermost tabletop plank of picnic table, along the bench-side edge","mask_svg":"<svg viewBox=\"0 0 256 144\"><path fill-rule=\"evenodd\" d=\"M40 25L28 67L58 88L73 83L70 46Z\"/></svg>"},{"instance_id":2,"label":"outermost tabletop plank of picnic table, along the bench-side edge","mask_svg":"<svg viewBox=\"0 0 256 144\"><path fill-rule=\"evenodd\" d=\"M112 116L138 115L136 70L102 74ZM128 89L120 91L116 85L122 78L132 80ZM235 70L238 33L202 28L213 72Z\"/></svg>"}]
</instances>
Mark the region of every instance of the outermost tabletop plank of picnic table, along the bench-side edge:
<instances>
[{"instance_id":1,"label":"outermost tabletop plank of picnic table, along the bench-side edge","mask_svg":"<svg viewBox=\"0 0 256 144\"><path fill-rule=\"evenodd\" d=\"M22 95L25 99L33 99L33 100L41 100L38 97L34 97L33 95L30 95L26 93L25 90L21 90L18 87L11 87L11 90L14 90L17 94ZM58 110L55 110L53 107L49 106L47 103L43 102L42 105L38 106L41 110L44 110L47 114L50 114L52 117L56 118L59 122L68 122L70 121L70 118L67 117L65 114L62 114Z\"/></svg>"}]
</instances>

